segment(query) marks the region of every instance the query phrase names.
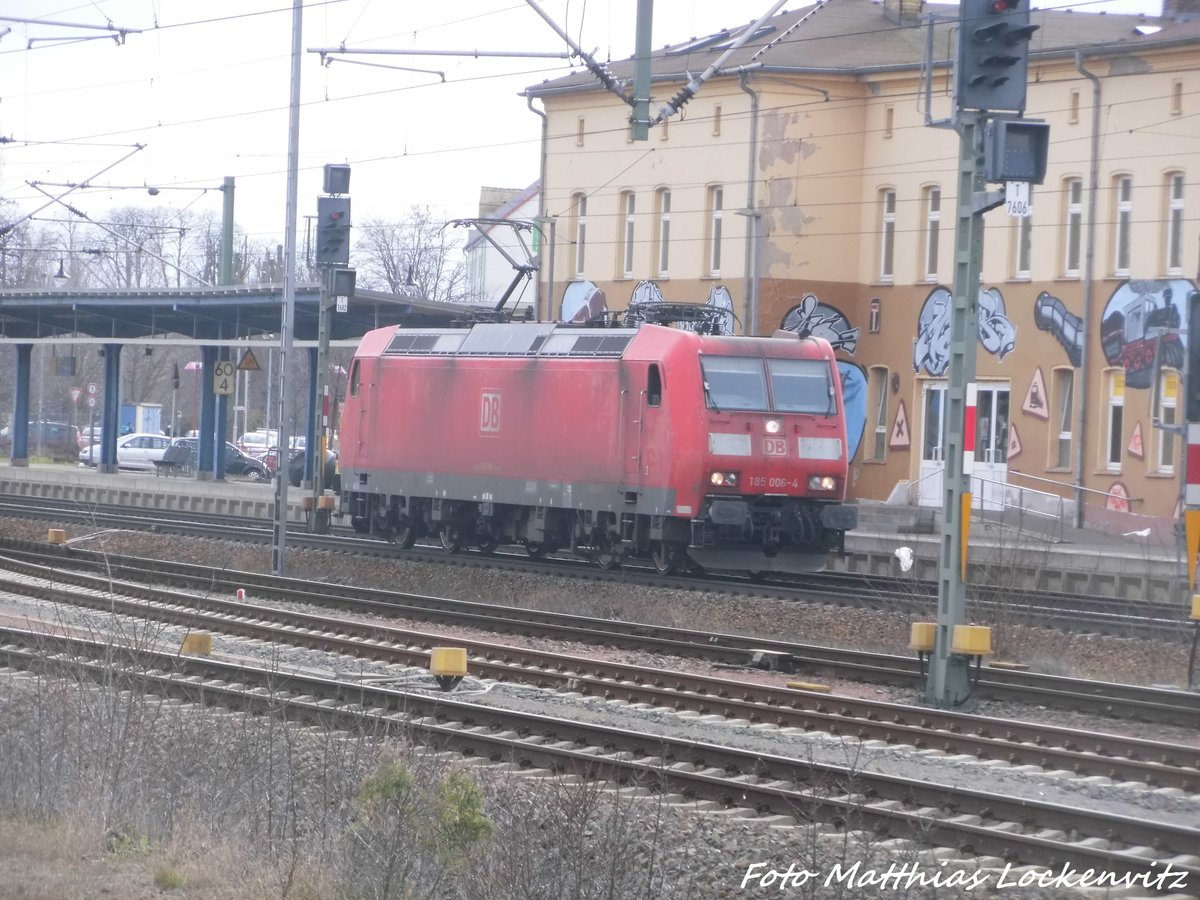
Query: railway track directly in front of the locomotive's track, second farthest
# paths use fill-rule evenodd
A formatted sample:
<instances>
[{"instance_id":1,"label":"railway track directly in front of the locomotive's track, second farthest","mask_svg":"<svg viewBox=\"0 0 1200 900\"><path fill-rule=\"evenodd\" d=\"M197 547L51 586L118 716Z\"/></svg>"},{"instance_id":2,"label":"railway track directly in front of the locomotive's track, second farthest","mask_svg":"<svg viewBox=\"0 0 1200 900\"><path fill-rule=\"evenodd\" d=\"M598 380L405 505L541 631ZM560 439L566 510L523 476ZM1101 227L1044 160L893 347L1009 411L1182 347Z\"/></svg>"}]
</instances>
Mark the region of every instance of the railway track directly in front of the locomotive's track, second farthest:
<instances>
[{"instance_id":1,"label":"railway track directly in front of the locomotive's track, second farthest","mask_svg":"<svg viewBox=\"0 0 1200 900\"><path fill-rule=\"evenodd\" d=\"M695 631L613 619L544 612L490 604L449 600L338 584L313 586L307 581L277 578L256 572L233 572L167 560L124 558L112 554L46 547L10 547L22 558L55 568L84 566L144 584L175 584L214 595L233 595L239 588L268 601L302 602L343 611L407 617L448 625L470 625L498 634L539 635L599 643L731 666L774 668L784 673L821 677L826 673L854 680L922 684L920 661L913 656L798 644L787 641ZM1135 721L1154 721L1200 730L1200 694L1082 678L985 667L976 685L979 698L1032 703L1088 712Z\"/></svg>"}]
</instances>

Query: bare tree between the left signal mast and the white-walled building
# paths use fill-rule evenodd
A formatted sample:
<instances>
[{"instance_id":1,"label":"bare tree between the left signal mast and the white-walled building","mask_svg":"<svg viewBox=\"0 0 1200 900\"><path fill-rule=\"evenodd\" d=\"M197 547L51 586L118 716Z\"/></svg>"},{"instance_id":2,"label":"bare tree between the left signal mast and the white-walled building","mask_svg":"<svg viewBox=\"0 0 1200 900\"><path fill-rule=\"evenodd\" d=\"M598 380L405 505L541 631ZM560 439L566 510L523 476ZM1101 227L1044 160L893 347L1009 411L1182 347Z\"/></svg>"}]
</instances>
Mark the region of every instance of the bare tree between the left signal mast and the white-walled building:
<instances>
[{"instance_id":1,"label":"bare tree between the left signal mast and the white-walled building","mask_svg":"<svg viewBox=\"0 0 1200 900\"><path fill-rule=\"evenodd\" d=\"M461 244L428 208L413 206L401 222L368 220L355 232L360 287L397 293L412 278L427 300L466 299Z\"/></svg>"}]
</instances>

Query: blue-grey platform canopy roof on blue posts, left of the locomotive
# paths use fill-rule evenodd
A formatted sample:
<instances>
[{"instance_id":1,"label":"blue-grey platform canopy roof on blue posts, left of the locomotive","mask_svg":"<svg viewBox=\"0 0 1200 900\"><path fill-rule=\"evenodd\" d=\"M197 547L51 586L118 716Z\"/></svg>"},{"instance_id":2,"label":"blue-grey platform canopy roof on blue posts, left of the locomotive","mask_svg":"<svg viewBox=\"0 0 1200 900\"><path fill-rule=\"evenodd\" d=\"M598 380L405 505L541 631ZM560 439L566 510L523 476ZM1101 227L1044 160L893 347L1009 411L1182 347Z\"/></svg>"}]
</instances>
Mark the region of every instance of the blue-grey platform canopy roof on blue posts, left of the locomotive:
<instances>
[{"instance_id":1,"label":"blue-grey platform canopy roof on blue posts, left of the locomotive","mask_svg":"<svg viewBox=\"0 0 1200 900\"><path fill-rule=\"evenodd\" d=\"M316 284L295 288L295 340L317 340L318 306ZM358 338L384 325L454 325L481 308L434 302L415 295L358 290L347 301L344 312L331 314L330 338ZM179 335L203 343L277 335L282 318L282 284L0 290L0 340L5 342L72 335L120 343Z\"/></svg>"}]
</instances>

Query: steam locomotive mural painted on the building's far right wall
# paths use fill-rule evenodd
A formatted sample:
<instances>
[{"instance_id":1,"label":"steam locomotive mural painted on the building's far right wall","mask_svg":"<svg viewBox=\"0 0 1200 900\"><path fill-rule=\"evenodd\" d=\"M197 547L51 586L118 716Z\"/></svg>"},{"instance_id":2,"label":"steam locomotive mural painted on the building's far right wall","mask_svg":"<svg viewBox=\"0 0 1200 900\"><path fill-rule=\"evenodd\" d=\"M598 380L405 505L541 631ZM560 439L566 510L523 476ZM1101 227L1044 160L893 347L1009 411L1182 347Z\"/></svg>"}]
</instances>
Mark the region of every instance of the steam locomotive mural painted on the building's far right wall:
<instances>
[{"instance_id":1,"label":"steam locomotive mural painted on the building's far right wall","mask_svg":"<svg viewBox=\"0 0 1200 900\"><path fill-rule=\"evenodd\" d=\"M1100 347L1110 366L1121 366L1126 386L1150 388L1154 368L1183 368L1180 306L1186 278L1130 280L1112 292L1100 319Z\"/></svg>"}]
</instances>

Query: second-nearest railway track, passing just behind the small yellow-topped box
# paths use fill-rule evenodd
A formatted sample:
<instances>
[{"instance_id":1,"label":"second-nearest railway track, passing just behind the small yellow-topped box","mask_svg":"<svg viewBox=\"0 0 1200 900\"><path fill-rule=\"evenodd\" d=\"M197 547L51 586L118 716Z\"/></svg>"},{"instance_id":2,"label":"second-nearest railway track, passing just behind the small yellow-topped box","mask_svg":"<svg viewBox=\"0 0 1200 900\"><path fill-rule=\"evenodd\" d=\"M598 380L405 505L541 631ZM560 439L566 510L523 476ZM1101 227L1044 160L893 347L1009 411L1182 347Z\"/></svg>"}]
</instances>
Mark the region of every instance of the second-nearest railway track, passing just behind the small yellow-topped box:
<instances>
[{"instance_id":1,"label":"second-nearest railway track, passing just behind the small yellow-topped box","mask_svg":"<svg viewBox=\"0 0 1200 900\"><path fill-rule=\"evenodd\" d=\"M12 593L61 602L64 584L74 588L70 594L72 605L422 670L428 667L430 649L444 641L377 620L335 619L296 610L293 604L292 608L256 605L211 592L182 593L148 587L144 581L114 580L112 574L62 575L34 563L6 560L4 586ZM826 697L491 641L456 637L454 642L467 648L475 674L499 682L1200 793L1200 748L882 701Z\"/></svg>"}]
</instances>

